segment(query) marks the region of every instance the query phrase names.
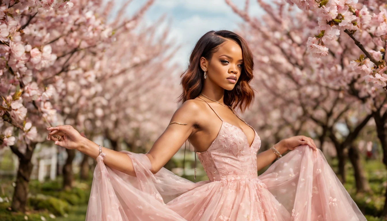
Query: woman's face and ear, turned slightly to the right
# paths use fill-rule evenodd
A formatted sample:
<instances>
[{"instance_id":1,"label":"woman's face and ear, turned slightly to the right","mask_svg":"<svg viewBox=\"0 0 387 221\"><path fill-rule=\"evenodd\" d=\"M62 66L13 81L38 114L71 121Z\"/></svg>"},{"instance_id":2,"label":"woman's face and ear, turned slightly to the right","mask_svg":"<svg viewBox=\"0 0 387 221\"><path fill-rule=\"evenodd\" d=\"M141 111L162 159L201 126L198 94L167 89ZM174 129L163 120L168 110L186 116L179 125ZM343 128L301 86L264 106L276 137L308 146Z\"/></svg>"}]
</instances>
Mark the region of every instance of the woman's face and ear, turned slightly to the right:
<instances>
[{"instance_id":1,"label":"woman's face and ear, turned slightly to the right","mask_svg":"<svg viewBox=\"0 0 387 221\"><path fill-rule=\"evenodd\" d=\"M212 55L211 60L207 61L204 57L200 60L202 70L207 70L207 78L204 81L212 81L231 91L241 75L243 60L242 49L234 41L226 41L220 49ZM227 79L236 77L236 80Z\"/></svg>"}]
</instances>

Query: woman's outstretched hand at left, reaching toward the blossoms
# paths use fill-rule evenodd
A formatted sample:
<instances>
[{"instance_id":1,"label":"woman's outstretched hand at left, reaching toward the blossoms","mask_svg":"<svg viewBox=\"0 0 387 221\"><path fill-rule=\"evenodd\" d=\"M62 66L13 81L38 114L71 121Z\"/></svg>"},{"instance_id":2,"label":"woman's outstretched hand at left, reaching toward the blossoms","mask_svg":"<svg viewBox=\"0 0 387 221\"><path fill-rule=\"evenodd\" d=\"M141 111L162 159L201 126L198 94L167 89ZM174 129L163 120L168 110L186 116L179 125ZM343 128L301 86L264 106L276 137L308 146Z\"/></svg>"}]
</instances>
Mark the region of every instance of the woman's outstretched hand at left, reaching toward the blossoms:
<instances>
[{"instance_id":1,"label":"woman's outstretched hand at left, reaching toward the blossoms","mask_svg":"<svg viewBox=\"0 0 387 221\"><path fill-rule=\"evenodd\" d=\"M50 127L47 128L47 130L50 130L50 132L46 139L53 140L56 145L65 147L66 149L77 149L85 139L85 137L82 137L82 135L70 125ZM58 139L53 135L58 135L60 138Z\"/></svg>"}]
</instances>

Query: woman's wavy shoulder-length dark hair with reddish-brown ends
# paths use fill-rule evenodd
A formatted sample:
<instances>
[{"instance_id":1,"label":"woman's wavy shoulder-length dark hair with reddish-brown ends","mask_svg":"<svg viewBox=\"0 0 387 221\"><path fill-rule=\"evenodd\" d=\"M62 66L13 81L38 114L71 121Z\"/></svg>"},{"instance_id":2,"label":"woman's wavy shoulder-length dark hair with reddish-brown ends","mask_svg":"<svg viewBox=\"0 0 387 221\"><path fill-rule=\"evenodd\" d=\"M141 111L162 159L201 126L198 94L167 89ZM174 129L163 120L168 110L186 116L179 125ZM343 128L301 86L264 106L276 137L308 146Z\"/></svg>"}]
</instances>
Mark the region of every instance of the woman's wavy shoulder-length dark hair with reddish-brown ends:
<instances>
[{"instance_id":1,"label":"woman's wavy shoulder-length dark hair with reddish-brown ends","mask_svg":"<svg viewBox=\"0 0 387 221\"><path fill-rule=\"evenodd\" d=\"M223 102L233 109L238 106L242 112L250 106L254 100L253 91L255 91L248 84L253 79L253 55L241 36L227 30L209 31L197 41L194 50L192 50L188 68L180 75L183 93L179 96L178 102L183 101L182 103L184 103L199 96L204 84L204 72L200 68L200 57L211 60L212 55L219 50L221 44L228 40L234 41L241 47L243 68L234 89L224 92ZM239 93L236 91L238 85L240 85Z\"/></svg>"}]
</instances>

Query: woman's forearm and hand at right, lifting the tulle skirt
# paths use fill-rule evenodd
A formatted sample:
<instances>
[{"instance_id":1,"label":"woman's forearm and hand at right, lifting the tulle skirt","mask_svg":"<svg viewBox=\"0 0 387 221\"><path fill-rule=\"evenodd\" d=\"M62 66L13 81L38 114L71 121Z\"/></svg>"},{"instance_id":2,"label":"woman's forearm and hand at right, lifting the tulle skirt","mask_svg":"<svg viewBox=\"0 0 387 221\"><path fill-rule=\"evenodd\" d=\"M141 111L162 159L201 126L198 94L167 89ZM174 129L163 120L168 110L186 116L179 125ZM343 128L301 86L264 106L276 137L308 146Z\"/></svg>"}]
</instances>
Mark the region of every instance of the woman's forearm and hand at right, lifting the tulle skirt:
<instances>
[{"instance_id":1,"label":"woman's forearm and hand at right, lifting the tulle skirt","mask_svg":"<svg viewBox=\"0 0 387 221\"><path fill-rule=\"evenodd\" d=\"M314 143L313 139L310 137L305 137L303 135L283 139L277 144L275 144L274 148L276 148L277 151L281 155L283 155L286 151L294 150L296 147L305 144L309 145L313 150L317 151L317 146ZM277 155L271 148L257 154L257 171L271 164L275 159L277 159Z\"/></svg>"}]
</instances>

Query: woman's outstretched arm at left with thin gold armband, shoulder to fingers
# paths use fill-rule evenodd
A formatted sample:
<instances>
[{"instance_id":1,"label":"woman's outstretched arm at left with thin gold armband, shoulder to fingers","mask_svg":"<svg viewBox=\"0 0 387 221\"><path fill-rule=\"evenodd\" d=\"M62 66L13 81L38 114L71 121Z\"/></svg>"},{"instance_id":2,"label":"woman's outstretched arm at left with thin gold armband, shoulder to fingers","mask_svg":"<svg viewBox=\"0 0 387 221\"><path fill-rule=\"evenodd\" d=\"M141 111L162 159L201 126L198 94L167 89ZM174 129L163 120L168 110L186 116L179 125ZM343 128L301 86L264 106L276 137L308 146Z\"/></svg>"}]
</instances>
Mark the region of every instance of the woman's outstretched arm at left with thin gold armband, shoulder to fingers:
<instances>
[{"instance_id":1,"label":"woman's outstretched arm at left with thin gold armband, shoulder to fingers","mask_svg":"<svg viewBox=\"0 0 387 221\"><path fill-rule=\"evenodd\" d=\"M180 125L172 123L166 127L163 134L154 142L152 148L145 155L152 164L151 171L157 173L182 147L197 125L199 107L195 101L188 100L183 103L173 114L170 122L187 123ZM157 120L157 119L156 119ZM52 135L60 135L63 138L57 145L67 149L77 149L80 152L96 159L99 155L98 144L82 137L79 132L69 125L48 128L50 140L56 140ZM106 154L103 162L106 166L135 176L134 168L130 157L124 152L118 152L106 147L102 147L102 152Z\"/></svg>"}]
</instances>

